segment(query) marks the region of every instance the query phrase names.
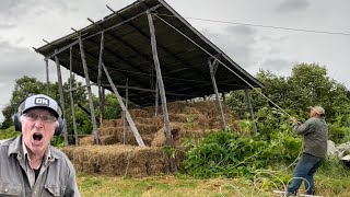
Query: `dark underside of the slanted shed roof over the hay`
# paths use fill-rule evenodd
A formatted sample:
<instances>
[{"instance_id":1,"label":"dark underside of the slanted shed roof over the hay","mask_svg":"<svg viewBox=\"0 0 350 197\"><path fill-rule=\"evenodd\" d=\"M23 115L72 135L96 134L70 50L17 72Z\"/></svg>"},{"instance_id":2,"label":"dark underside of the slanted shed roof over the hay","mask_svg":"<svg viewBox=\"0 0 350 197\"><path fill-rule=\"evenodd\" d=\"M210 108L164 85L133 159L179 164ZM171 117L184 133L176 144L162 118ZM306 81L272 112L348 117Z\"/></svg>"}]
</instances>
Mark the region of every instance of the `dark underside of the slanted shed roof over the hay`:
<instances>
[{"instance_id":1,"label":"dark underside of the slanted shed roof over the hay","mask_svg":"<svg viewBox=\"0 0 350 197\"><path fill-rule=\"evenodd\" d=\"M136 1L36 51L54 61L58 56L59 63L70 69L71 47L72 71L84 77L78 39L81 36L90 80L97 83L101 33L104 32L102 59L114 83L125 88L128 80L128 99L142 106L153 105L156 74L147 11L154 20L158 55L168 102L214 93L208 65L212 57L220 60L215 72L219 92L262 86L163 0ZM102 83L108 84L104 73ZM112 91L110 85L105 88ZM122 89L118 92L126 96Z\"/></svg>"}]
</instances>

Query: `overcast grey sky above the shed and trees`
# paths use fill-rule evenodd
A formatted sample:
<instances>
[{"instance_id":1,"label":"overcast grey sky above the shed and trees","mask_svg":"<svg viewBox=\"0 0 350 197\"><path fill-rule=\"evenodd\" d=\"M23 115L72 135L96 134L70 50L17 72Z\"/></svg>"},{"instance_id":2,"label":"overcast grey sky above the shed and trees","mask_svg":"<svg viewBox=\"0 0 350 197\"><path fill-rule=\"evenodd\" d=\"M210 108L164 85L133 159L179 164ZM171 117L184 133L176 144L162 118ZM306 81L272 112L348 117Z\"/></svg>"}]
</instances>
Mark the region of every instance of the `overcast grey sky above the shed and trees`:
<instances>
[{"instance_id":1,"label":"overcast grey sky above the shed and trees","mask_svg":"<svg viewBox=\"0 0 350 197\"><path fill-rule=\"evenodd\" d=\"M45 81L44 57L32 47L52 42L133 0L0 0L0 111L15 79ZM348 0L166 0L182 16L250 74L259 69L289 76L298 62L326 66L350 89L350 35L318 34L213 23L196 19L350 34ZM67 71L62 68L63 74ZM50 79L57 80L50 62ZM66 80L66 79L65 79ZM0 123L2 121L0 113Z\"/></svg>"}]
</instances>

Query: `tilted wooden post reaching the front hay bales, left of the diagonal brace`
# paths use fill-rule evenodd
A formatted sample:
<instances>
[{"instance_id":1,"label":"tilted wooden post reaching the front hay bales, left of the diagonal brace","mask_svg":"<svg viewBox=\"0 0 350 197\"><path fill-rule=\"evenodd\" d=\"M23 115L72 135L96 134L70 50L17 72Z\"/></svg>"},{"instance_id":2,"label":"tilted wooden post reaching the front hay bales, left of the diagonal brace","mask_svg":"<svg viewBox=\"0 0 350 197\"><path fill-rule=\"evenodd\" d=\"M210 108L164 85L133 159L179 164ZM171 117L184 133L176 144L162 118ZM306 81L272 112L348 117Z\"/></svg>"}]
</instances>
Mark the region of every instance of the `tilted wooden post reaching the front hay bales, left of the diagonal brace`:
<instances>
[{"instance_id":1,"label":"tilted wooden post reaching the front hay bales, left of the diagonal brace","mask_svg":"<svg viewBox=\"0 0 350 197\"><path fill-rule=\"evenodd\" d=\"M88 65L86 65L86 59L85 59L85 51L84 51L84 46L83 46L83 42L81 39L81 36L79 36L79 46L80 46L81 61L83 63L84 76L85 76L85 81L86 81L91 120L92 120L92 124L93 124L94 143L98 144L100 143L100 138L98 138L98 130L97 130L97 124L96 124L96 117L95 117L95 108L94 108L94 103L92 101L91 85L90 85L90 79L89 79L89 70L88 70Z\"/></svg>"}]
</instances>

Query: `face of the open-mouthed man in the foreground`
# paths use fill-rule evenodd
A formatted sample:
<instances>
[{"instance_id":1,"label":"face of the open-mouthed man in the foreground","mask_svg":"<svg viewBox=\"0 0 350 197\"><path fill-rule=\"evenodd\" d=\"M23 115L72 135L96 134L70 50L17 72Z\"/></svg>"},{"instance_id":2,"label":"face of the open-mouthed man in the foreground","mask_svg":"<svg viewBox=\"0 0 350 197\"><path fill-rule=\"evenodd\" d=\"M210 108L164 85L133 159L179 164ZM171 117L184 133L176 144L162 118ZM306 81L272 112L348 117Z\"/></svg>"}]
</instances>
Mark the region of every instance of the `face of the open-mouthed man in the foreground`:
<instances>
[{"instance_id":1,"label":"face of the open-mouthed man in the foreground","mask_svg":"<svg viewBox=\"0 0 350 197\"><path fill-rule=\"evenodd\" d=\"M45 118L46 117L46 118ZM22 117L22 135L30 153L44 154L55 132L57 121L48 109L33 108Z\"/></svg>"}]
</instances>

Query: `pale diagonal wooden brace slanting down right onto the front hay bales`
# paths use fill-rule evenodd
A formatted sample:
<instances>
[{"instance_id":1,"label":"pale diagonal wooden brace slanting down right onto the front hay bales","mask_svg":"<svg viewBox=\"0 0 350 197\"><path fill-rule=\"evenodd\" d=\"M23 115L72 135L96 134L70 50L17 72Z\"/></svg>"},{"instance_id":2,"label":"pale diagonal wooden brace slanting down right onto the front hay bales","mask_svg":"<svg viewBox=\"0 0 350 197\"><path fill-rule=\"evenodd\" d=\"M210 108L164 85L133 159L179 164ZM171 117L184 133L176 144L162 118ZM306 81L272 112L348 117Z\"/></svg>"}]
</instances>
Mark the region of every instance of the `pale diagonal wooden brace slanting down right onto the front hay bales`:
<instances>
[{"instance_id":1,"label":"pale diagonal wooden brace slanting down right onto the front hay bales","mask_svg":"<svg viewBox=\"0 0 350 197\"><path fill-rule=\"evenodd\" d=\"M144 146L144 142L143 142L143 140L142 140L142 138L141 138L141 136L140 136L140 134L139 134L139 131L138 131L138 129L137 129L137 127L136 127L136 125L135 125L131 116L130 116L129 111L126 108L126 106L125 106L125 104L124 104L124 102L122 102L122 100L121 100L121 96L120 96L120 94L119 94L116 85L113 83L113 80L112 80L112 78L110 78L110 76L109 76L109 73L108 73L107 68L105 67L105 65L104 65L103 62L102 62L102 67L103 67L104 71L105 71L105 74L106 74L106 77L107 77L107 79L108 79L108 82L110 83L110 86L112 86L114 93L115 93L116 96L117 96L117 100L118 100L118 102L119 102L119 105L120 105L121 109L125 111L126 118L127 118L127 120L128 120L128 123L129 123L129 125L130 125L130 128L131 128L131 130L132 130L132 132L133 132L133 136L135 136L135 138L136 138L136 141L138 142L138 144L139 144L140 147L145 147L145 146Z\"/></svg>"}]
</instances>

